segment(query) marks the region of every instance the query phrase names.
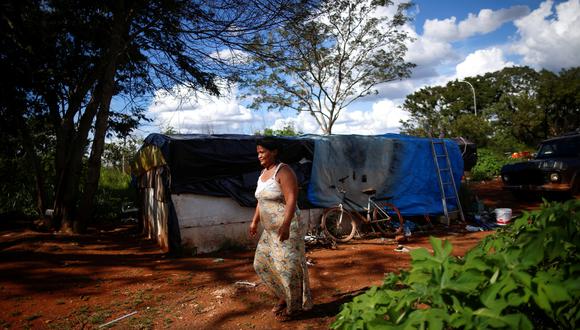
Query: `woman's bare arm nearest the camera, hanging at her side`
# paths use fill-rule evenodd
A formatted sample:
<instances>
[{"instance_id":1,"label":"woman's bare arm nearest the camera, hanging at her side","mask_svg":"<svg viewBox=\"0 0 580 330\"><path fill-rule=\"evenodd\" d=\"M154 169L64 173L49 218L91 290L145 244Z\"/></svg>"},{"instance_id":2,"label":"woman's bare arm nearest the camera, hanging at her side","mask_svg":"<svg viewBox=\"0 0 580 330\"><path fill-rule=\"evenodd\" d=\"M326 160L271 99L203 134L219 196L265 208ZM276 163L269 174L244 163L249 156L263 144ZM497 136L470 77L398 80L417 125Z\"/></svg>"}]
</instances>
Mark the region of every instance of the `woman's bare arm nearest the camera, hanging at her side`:
<instances>
[{"instance_id":1,"label":"woman's bare arm nearest the camera, hanging at her side","mask_svg":"<svg viewBox=\"0 0 580 330\"><path fill-rule=\"evenodd\" d=\"M280 189L284 195L286 207L284 208L284 222L278 230L278 237L283 242L290 237L290 224L296 213L296 202L298 200L298 180L296 174L288 165L284 165L278 171L276 177L280 183Z\"/></svg>"}]
</instances>

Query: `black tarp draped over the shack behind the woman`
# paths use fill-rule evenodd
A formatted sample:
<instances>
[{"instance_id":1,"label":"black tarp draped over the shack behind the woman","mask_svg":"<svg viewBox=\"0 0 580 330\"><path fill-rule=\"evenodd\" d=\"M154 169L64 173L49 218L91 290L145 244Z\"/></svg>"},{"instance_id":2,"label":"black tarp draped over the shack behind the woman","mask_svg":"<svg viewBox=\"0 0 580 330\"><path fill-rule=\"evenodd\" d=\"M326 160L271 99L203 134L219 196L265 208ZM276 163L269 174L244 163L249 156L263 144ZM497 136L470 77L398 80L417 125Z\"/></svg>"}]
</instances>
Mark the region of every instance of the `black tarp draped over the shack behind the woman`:
<instances>
[{"instance_id":1,"label":"black tarp draped over the shack behind the woman","mask_svg":"<svg viewBox=\"0 0 580 330\"><path fill-rule=\"evenodd\" d=\"M256 152L259 136L150 134L145 145L155 145L171 169L171 192L232 197L242 206L255 206L254 191L262 170ZM313 142L300 137L274 137L281 147L280 161L298 177L300 204L310 179Z\"/></svg>"}]
</instances>

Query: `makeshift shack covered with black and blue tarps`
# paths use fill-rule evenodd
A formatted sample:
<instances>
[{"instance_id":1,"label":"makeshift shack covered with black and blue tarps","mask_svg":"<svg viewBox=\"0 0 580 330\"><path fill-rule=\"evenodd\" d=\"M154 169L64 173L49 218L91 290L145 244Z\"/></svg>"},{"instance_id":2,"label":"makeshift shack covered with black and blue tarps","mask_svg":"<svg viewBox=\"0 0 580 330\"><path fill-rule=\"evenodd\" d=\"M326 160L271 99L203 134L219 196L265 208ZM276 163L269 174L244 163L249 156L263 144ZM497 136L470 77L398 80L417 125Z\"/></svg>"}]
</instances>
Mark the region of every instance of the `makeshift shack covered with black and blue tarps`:
<instances>
[{"instance_id":1,"label":"makeshift shack covered with black and blue tarps","mask_svg":"<svg viewBox=\"0 0 580 330\"><path fill-rule=\"evenodd\" d=\"M254 244L248 226L261 171L256 138L149 135L133 165L144 231L166 251L206 253ZM374 188L378 197L392 196L403 216L443 213L430 139L397 134L276 139L282 144L281 161L298 177L301 217L313 226L324 208L340 201L331 188L340 178L348 197L361 205L366 200L361 191ZM460 149L453 140L443 141L459 184Z\"/></svg>"}]
</instances>

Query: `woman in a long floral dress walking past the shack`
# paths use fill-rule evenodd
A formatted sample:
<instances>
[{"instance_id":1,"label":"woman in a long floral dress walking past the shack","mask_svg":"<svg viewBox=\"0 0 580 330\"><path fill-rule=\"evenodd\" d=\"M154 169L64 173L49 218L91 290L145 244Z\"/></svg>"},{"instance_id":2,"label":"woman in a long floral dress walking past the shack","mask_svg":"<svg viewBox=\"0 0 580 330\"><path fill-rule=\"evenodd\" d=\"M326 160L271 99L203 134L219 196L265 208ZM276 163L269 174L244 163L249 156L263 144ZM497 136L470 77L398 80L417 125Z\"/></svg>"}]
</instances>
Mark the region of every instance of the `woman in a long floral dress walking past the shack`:
<instances>
[{"instance_id":1,"label":"woman in a long floral dress walking past the shack","mask_svg":"<svg viewBox=\"0 0 580 330\"><path fill-rule=\"evenodd\" d=\"M257 142L256 150L264 169L258 178L258 205L250 235L256 235L258 223L264 231L256 248L254 269L278 298L272 312L277 319L287 320L312 307L304 247L308 223L298 216L296 174L278 161L279 145L266 138Z\"/></svg>"}]
</instances>

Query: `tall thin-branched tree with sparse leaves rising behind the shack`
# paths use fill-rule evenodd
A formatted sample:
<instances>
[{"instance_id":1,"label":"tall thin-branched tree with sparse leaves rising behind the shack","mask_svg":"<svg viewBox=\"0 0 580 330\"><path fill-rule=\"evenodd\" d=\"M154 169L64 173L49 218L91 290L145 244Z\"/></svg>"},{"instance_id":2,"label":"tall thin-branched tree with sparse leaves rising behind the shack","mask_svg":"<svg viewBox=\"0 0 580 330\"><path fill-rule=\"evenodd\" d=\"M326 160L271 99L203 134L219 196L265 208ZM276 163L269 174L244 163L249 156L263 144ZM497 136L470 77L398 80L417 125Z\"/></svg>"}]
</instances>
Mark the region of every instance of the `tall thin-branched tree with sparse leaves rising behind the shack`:
<instances>
[{"instance_id":1,"label":"tall thin-branched tree with sparse leaves rising behind the shack","mask_svg":"<svg viewBox=\"0 0 580 330\"><path fill-rule=\"evenodd\" d=\"M408 3L323 1L314 17L289 22L256 48L256 75L246 80L253 108L311 114L331 134L341 112L376 93L376 86L408 77ZM391 14L384 12L391 11ZM282 46L280 46L282 45ZM268 56L269 55L269 56Z\"/></svg>"}]
</instances>

